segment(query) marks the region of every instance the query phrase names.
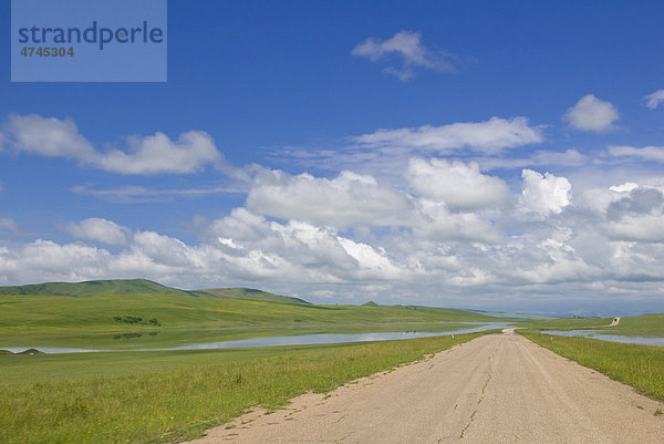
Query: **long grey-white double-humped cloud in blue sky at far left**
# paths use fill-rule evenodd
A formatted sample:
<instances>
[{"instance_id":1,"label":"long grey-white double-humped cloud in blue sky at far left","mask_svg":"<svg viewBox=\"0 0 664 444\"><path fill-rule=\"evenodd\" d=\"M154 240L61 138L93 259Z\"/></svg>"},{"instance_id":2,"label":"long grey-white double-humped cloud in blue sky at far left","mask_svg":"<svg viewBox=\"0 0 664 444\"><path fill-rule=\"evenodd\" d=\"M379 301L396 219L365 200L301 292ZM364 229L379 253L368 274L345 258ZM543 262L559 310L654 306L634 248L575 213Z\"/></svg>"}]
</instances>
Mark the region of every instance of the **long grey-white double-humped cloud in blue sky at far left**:
<instances>
[{"instance_id":1,"label":"long grey-white double-humped cloud in blue sky at far left","mask_svg":"<svg viewBox=\"0 0 664 444\"><path fill-rule=\"evenodd\" d=\"M163 133L131 136L127 151L100 152L79 133L72 120L45 118L37 114L11 116L7 124L10 145L18 152L48 157L68 157L82 165L127 175L189 174L212 165L234 174L212 138L190 131L172 141Z\"/></svg>"}]
</instances>

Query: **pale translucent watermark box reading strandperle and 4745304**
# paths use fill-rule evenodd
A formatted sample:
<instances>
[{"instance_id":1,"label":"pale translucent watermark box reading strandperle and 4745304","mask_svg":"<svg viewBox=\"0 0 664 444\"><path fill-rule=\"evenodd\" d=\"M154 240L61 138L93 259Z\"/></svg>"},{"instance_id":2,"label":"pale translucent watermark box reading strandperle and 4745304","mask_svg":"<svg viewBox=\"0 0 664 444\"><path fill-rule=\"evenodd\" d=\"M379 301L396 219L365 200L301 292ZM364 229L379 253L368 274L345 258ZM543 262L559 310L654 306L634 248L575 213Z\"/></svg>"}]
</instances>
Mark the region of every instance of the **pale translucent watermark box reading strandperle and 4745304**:
<instances>
[{"instance_id":1,"label":"pale translucent watermark box reading strandperle and 4745304","mask_svg":"<svg viewBox=\"0 0 664 444\"><path fill-rule=\"evenodd\" d=\"M166 0L12 0L12 82L166 82Z\"/></svg>"}]
</instances>

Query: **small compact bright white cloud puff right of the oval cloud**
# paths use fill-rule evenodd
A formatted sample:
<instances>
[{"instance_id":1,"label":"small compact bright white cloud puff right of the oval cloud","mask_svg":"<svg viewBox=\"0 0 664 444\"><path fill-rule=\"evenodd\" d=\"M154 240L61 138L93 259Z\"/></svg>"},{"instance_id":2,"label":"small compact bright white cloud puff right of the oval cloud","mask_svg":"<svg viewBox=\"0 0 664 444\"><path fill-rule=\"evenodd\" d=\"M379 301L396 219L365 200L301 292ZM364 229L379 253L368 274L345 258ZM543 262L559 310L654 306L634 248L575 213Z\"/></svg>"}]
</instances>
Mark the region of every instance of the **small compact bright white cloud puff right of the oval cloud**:
<instances>
[{"instance_id":1,"label":"small compact bright white cloud puff right of the oval cloud","mask_svg":"<svg viewBox=\"0 0 664 444\"><path fill-rule=\"evenodd\" d=\"M532 169L521 172L523 189L521 205L526 211L546 216L561 213L570 205L569 193L572 185L566 177L557 177L550 173L543 176Z\"/></svg>"}]
</instances>

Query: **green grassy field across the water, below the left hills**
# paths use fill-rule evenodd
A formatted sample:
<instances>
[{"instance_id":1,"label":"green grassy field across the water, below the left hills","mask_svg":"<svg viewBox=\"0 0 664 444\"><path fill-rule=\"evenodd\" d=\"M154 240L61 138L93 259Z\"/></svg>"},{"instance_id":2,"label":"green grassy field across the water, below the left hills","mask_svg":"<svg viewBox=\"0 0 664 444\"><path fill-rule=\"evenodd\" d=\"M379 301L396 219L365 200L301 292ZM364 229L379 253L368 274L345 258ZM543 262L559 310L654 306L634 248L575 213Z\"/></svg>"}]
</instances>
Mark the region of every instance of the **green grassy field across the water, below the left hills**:
<instances>
[{"instance_id":1,"label":"green grassy field across the water, below the left hills","mask_svg":"<svg viewBox=\"0 0 664 444\"><path fill-rule=\"evenodd\" d=\"M164 287L166 290L162 293L131 295L125 293L127 288L111 282L94 285L95 296L90 297L83 297L81 288L70 283L27 287L31 291L40 288L46 292L69 291L77 297L0 295L0 349L168 348L321 332L446 331L461 328L459 322L501 321L481 313L443 308L318 306L247 289L203 290L215 292L204 295ZM131 282L131 288L149 291L162 291L163 287L149 281ZM25 287L4 289L6 292L23 290ZM121 293L102 295L103 291Z\"/></svg>"}]
</instances>

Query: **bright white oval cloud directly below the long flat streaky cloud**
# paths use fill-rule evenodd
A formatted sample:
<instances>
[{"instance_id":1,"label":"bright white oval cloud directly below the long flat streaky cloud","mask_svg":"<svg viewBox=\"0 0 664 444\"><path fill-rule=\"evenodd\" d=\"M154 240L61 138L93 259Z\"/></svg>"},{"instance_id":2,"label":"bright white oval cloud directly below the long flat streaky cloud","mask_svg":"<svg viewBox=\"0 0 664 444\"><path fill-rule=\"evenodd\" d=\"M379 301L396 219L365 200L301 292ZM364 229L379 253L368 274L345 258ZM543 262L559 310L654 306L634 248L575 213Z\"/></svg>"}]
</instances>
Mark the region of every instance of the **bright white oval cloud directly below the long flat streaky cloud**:
<instances>
[{"instance_id":1,"label":"bright white oval cloud directly below the long flat streaky cloud","mask_svg":"<svg viewBox=\"0 0 664 444\"><path fill-rule=\"evenodd\" d=\"M406 177L417 194L443 202L454 210L500 206L510 197L507 184L498 177L481 174L476 163L413 158Z\"/></svg>"}]
</instances>

